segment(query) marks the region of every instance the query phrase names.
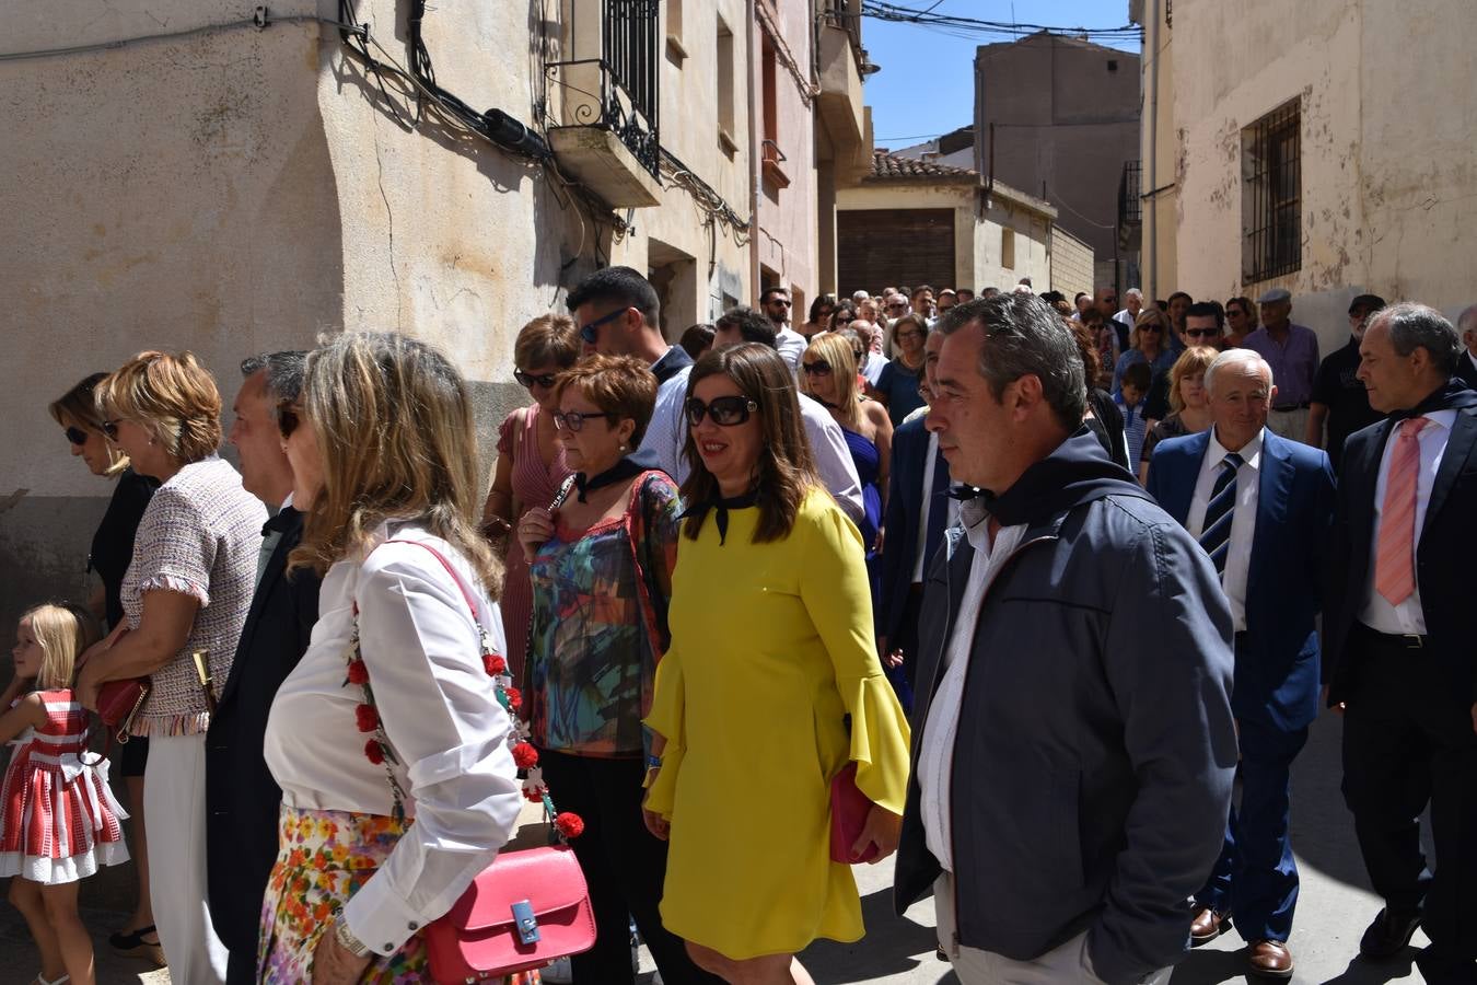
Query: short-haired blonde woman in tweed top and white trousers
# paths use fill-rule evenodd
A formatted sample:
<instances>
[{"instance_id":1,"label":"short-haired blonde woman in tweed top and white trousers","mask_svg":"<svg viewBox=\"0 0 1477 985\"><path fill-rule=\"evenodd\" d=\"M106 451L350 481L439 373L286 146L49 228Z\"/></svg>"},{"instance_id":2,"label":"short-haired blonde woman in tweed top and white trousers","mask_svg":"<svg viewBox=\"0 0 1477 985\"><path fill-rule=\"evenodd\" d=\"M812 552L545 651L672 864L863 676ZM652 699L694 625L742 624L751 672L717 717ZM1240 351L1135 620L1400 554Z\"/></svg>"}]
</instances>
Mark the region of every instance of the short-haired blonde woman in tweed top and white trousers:
<instances>
[{"instance_id":1,"label":"short-haired blonde woman in tweed top and white trousers","mask_svg":"<svg viewBox=\"0 0 1477 985\"><path fill-rule=\"evenodd\" d=\"M96 709L103 682L152 678L131 731L151 738L149 874L154 896L168 899L154 916L170 978L211 985L225 981L226 948L205 908L205 730L251 605L267 512L216 455L220 391L193 353L139 353L99 384L97 406L103 434L161 486L123 577L124 622L84 654L77 697Z\"/></svg>"}]
</instances>

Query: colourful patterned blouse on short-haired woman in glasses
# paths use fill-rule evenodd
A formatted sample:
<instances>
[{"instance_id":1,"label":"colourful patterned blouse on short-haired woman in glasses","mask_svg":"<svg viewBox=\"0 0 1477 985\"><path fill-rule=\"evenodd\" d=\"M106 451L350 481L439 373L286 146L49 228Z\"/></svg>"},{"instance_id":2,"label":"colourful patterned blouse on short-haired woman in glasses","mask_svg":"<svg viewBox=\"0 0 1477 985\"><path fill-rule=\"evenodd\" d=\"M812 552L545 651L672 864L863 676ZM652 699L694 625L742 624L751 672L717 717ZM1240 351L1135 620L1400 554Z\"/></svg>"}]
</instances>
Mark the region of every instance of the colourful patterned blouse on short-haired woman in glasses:
<instances>
[{"instance_id":1,"label":"colourful patterned blouse on short-haired woman in glasses","mask_svg":"<svg viewBox=\"0 0 1477 985\"><path fill-rule=\"evenodd\" d=\"M640 756L676 564L676 486L647 471L626 512L557 526L529 560L527 703L533 743L580 756Z\"/></svg>"}]
</instances>

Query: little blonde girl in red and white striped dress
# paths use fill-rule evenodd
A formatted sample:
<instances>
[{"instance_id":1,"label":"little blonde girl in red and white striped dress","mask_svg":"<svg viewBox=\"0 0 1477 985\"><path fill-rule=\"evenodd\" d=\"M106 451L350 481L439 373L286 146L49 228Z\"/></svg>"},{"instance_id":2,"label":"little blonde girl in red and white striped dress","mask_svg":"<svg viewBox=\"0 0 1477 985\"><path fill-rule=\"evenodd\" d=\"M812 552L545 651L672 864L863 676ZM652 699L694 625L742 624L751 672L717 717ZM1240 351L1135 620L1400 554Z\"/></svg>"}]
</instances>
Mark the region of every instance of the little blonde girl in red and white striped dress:
<instances>
[{"instance_id":1,"label":"little blonde girl in red and white striped dress","mask_svg":"<svg viewBox=\"0 0 1477 985\"><path fill-rule=\"evenodd\" d=\"M77 654L97 638L77 605L37 605L16 631L15 682L0 699L0 877L41 951L40 985L93 985L92 938L77 916L78 880L128 859L108 761L86 753L87 712L71 685ZM22 682L37 690L16 699ZM13 740L13 741L12 741ZM92 762L84 762L84 755Z\"/></svg>"}]
</instances>

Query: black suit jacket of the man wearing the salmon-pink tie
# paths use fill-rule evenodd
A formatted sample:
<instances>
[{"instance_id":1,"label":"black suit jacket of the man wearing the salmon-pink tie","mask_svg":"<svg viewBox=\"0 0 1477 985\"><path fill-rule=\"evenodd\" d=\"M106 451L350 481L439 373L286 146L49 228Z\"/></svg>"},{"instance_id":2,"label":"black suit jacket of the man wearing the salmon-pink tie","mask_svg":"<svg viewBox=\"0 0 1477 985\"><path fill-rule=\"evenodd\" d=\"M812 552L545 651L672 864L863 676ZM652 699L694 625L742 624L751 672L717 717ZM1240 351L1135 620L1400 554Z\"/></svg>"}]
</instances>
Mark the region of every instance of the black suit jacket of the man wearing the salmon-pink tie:
<instances>
[{"instance_id":1,"label":"black suit jacket of the man wearing the salmon-pink tie","mask_svg":"<svg viewBox=\"0 0 1477 985\"><path fill-rule=\"evenodd\" d=\"M1462 354L1467 359L1467 354ZM1468 582L1477 557L1477 393L1458 378L1412 411L1349 436L1338 474L1338 499L1323 600L1323 682L1329 704L1347 700L1359 672L1349 636L1363 608L1374 563L1375 483L1380 459L1396 425L1428 411L1455 409L1440 470L1425 508L1421 542L1415 545L1415 582L1421 592L1428 648L1421 660L1436 662L1462 707L1477 701L1477 605ZM1413 659L1413 657L1412 657ZM1436 696L1433 696L1434 699Z\"/></svg>"}]
</instances>

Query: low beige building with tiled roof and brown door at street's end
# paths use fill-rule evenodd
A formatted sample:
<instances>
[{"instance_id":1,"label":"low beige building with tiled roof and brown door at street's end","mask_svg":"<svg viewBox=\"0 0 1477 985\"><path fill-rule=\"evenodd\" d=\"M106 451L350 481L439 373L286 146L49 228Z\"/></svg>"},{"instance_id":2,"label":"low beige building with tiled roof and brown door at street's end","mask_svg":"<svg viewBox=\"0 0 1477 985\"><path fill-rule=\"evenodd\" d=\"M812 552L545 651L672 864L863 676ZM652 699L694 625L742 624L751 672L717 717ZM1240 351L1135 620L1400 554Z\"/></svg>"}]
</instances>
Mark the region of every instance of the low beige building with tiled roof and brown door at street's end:
<instances>
[{"instance_id":1,"label":"low beige building with tiled roof and brown door at street's end","mask_svg":"<svg viewBox=\"0 0 1477 985\"><path fill-rule=\"evenodd\" d=\"M987 191L973 170L877 151L871 174L837 201L843 294L1010 289L1021 278L1037 292L1092 289L1093 251L1059 235L1056 210L1000 182Z\"/></svg>"}]
</instances>

